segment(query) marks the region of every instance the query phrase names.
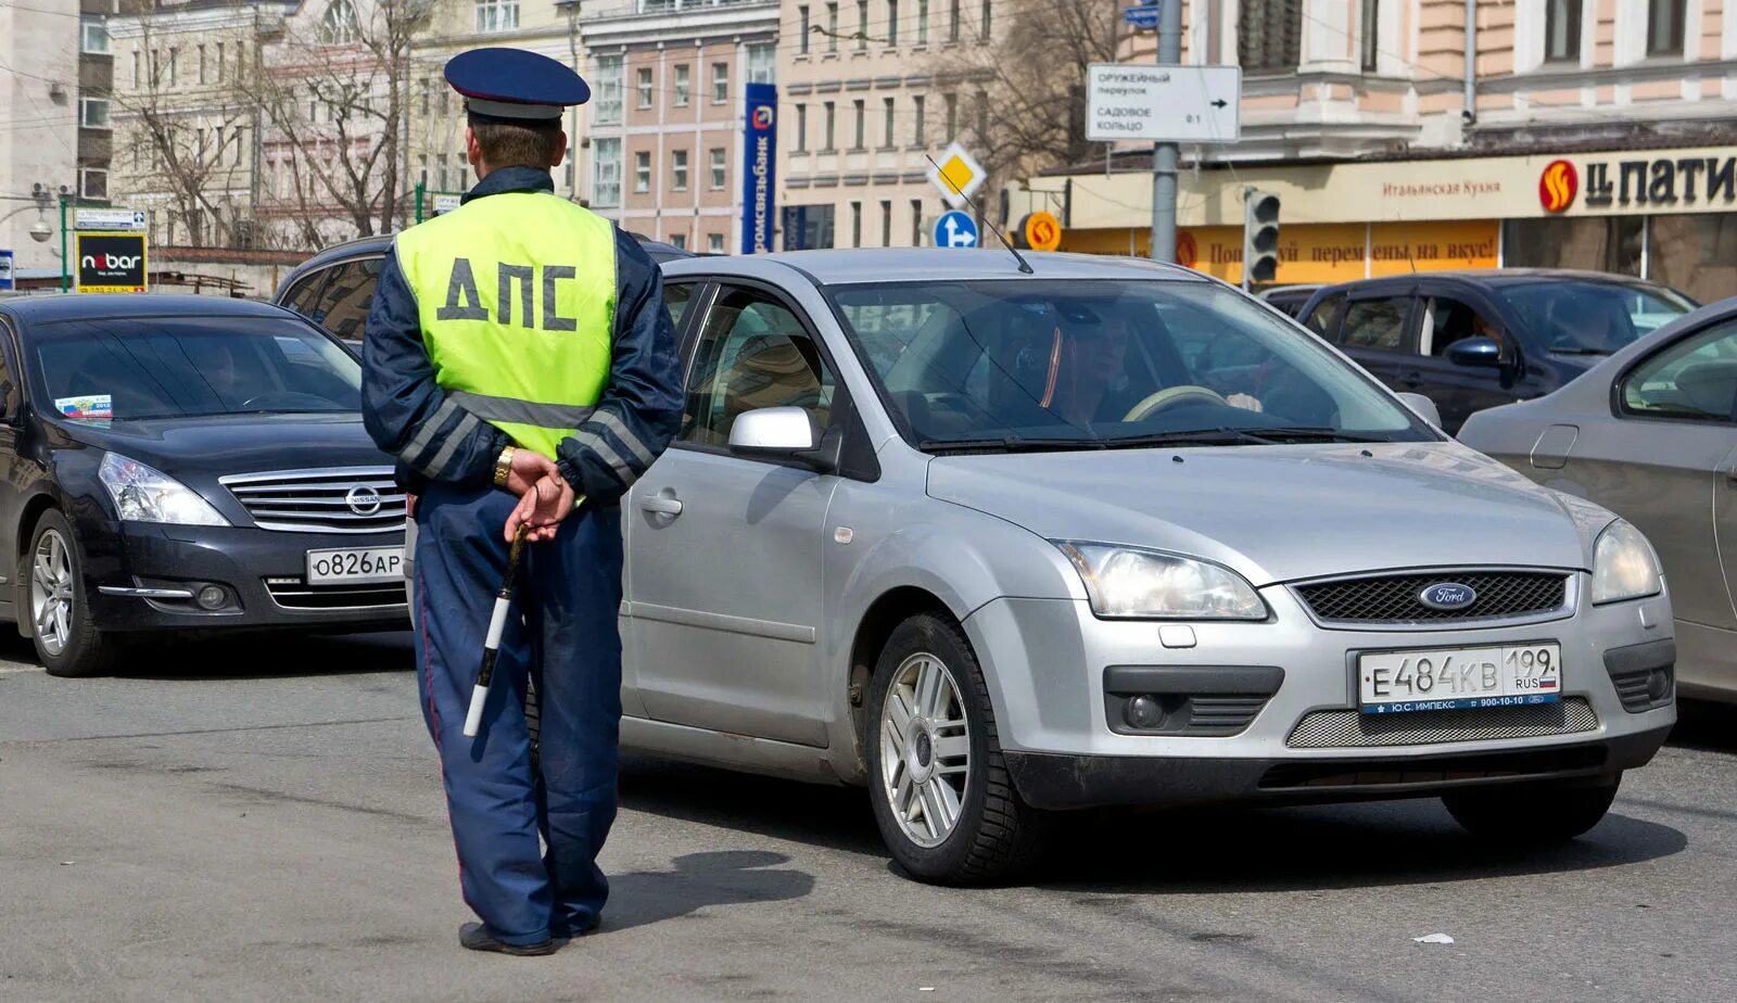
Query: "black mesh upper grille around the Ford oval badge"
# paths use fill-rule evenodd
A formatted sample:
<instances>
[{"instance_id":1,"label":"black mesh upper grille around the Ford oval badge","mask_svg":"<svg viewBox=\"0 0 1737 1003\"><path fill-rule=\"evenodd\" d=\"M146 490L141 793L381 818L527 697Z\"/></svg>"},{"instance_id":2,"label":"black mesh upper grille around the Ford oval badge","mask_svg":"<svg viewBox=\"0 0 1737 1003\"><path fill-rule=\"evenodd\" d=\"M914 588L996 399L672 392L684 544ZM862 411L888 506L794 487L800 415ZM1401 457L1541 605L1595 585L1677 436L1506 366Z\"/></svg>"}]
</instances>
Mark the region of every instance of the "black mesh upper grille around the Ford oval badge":
<instances>
[{"instance_id":1,"label":"black mesh upper grille around the Ford oval badge","mask_svg":"<svg viewBox=\"0 0 1737 1003\"><path fill-rule=\"evenodd\" d=\"M1431 609L1419 593L1438 583L1464 585L1476 600L1463 609ZM1322 623L1464 623L1555 613L1567 606L1569 576L1562 571L1430 571L1343 578L1296 587L1298 597Z\"/></svg>"}]
</instances>

